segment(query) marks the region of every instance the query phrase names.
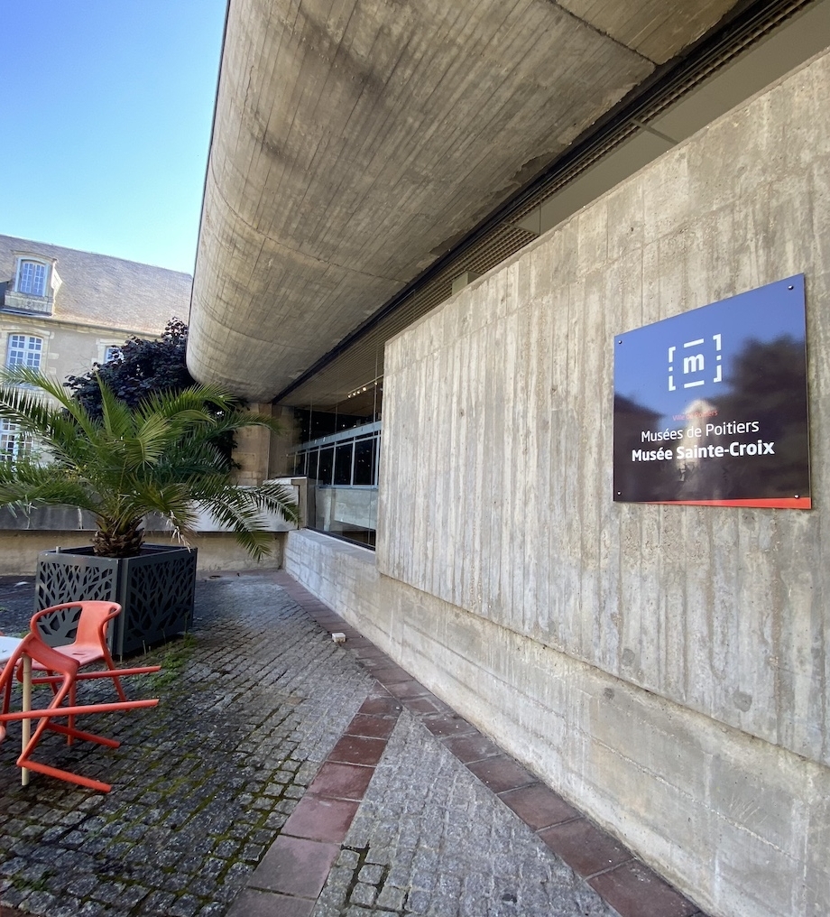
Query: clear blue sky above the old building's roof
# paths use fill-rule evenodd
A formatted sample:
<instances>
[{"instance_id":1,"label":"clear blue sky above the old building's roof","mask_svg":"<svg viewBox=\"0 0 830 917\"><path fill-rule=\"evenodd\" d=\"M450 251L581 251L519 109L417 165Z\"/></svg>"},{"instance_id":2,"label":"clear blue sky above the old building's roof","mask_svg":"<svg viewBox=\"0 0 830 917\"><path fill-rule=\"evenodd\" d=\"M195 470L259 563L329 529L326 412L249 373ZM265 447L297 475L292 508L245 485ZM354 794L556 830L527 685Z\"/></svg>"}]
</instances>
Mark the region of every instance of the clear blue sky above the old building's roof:
<instances>
[{"instance_id":1,"label":"clear blue sky above the old building's roof","mask_svg":"<svg viewBox=\"0 0 830 917\"><path fill-rule=\"evenodd\" d=\"M0 0L0 234L192 273L225 0Z\"/></svg>"}]
</instances>

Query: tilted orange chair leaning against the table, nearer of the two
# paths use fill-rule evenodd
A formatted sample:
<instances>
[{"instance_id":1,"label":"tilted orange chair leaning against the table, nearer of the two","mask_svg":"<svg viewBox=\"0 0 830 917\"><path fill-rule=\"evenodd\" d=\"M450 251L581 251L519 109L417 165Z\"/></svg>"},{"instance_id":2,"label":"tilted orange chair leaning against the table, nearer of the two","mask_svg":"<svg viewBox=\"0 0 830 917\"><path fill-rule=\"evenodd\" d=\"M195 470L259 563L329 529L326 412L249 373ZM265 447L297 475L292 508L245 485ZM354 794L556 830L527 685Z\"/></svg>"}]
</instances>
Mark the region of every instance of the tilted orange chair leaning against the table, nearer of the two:
<instances>
[{"instance_id":1,"label":"tilted orange chair leaning against the table, nearer of the two","mask_svg":"<svg viewBox=\"0 0 830 917\"><path fill-rule=\"evenodd\" d=\"M48 646L43 642L40 635L36 633L27 634L17 647L14 655L9 658L5 664L3 672L0 673L0 691L7 691L7 686L15 678L15 669L18 664L27 656L32 660L33 668L49 671L51 674L38 679L38 683L49 682L52 685L54 693L47 707L38 710L11 712L4 711L0 713L0 742L6 735L5 724L16 720L37 720L38 725L29 738L26 746L23 747L20 757L17 758L18 768L27 768L37 771L41 774L47 774L49 777L55 777L60 780L67 780L70 783L77 783L82 787L89 787L91 790L101 790L109 792L112 790L112 784L104 783L101 780L94 780L88 777L82 777L80 774L72 773L69 770L55 768L52 765L44 764L32 758L35 749L38 747L43 735L50 731L60 733L67 737L67 742L73 739L82 739L87 742L94 742L98 745L107 746L108 748L117 748L121 745L115 739L106 738L103 735L82 732L75 728L75 717L87 713L109 713L111 711L134 710L138 707L155 707L158 704L158 698L147 701L118 701L115 703L92 703L79 704L76 698L76 687L78 681L86 679L116 679L126 675L146 674L147 672L158 672L160 666L141 666L137 668L120 668L118 675L115 676L112 670L102 670L95 672L79 672L80 663L65 653L60 653L58 647ZM34 681L35 679L33 679ZM63 702L69 698L69 704L63 706ZM56 723L55 720L67 720L67 724Z\"/></svg>"}]
</instances>

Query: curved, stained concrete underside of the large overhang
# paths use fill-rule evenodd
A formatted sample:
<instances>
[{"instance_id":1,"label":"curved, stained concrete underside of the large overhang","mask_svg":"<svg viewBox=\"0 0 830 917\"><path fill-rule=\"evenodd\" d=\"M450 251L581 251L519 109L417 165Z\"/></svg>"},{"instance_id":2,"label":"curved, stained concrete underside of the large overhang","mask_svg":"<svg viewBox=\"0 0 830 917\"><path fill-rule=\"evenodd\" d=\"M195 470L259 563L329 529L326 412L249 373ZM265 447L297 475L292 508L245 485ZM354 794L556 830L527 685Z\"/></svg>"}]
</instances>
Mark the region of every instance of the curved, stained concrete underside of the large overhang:
<instances>
[{"instance_id":1,"label":"curved, stained concrete underside of the large overhang","mask_svg":"<svg viewBox=\"0 0 830 917\"><path fill-rule=\"evenodd\" d=\"M267 401L734 0L231 0L188 364Z\"/></svg>"}]
</instances>

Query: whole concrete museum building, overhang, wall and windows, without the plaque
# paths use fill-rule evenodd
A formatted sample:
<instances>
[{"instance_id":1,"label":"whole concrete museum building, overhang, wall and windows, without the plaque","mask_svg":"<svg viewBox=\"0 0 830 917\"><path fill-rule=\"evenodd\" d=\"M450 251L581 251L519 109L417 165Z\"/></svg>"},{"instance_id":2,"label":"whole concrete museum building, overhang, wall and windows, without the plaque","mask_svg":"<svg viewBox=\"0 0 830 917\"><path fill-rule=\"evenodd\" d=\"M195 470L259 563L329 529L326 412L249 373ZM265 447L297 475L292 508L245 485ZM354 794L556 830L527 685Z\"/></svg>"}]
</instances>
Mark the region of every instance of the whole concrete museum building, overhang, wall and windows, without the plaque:
<instances>
[{"instance_id":1,"label":"whole concrete museum building, overhang, wall and windows, without the plaque","mask_svg":"<svg viewBox=\"0 0 830 917\"><path fill-rule=\"evenodd\" d=\"M830 913L828 105L827 0L228 6L188 361L286 568L715 917ZM795 275L813 508L617 502L615 338Z\"/></svg>"}]
</instances>

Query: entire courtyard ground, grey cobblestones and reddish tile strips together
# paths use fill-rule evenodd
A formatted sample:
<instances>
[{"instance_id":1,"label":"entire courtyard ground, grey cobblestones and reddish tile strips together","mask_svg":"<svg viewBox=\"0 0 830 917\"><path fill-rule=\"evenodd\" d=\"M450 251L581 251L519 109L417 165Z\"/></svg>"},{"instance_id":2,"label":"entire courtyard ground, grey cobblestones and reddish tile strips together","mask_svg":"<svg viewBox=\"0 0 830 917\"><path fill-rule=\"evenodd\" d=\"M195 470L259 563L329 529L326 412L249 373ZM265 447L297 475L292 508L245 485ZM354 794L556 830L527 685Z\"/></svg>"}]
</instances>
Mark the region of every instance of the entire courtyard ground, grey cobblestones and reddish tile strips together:
<instances>
[{"instance_id":1,"label":"entire courtyard ground, grey cobblestones and reddish tile strips together","mask_svg":"<svg viewBox=\"0 0 830 917\"><path fill-rule=\"evenodd\" d=\"M700 915L368 641L344 628L336 645L342 622L307 600L282 572L202 578L192 633L136 659L163 666L130 686L158 707L96 718L123 745L42 746L113 783L108 794L38 774L22 788L10 730L0 917ZM30 578L0 578L0 630L22 634L31 605ZM359 792L338 790L364 764ZM348 813L332 836L319 834L326 807ZM574 836L566 865L553 849ZM298 850L328 858L300 868ZM286 862L322 868L319 881L287 876ZM639 900L626 902L624 881L606 895L617 911L591 885L613 891L626 875Z\"/></svg>"}]
</instances>

